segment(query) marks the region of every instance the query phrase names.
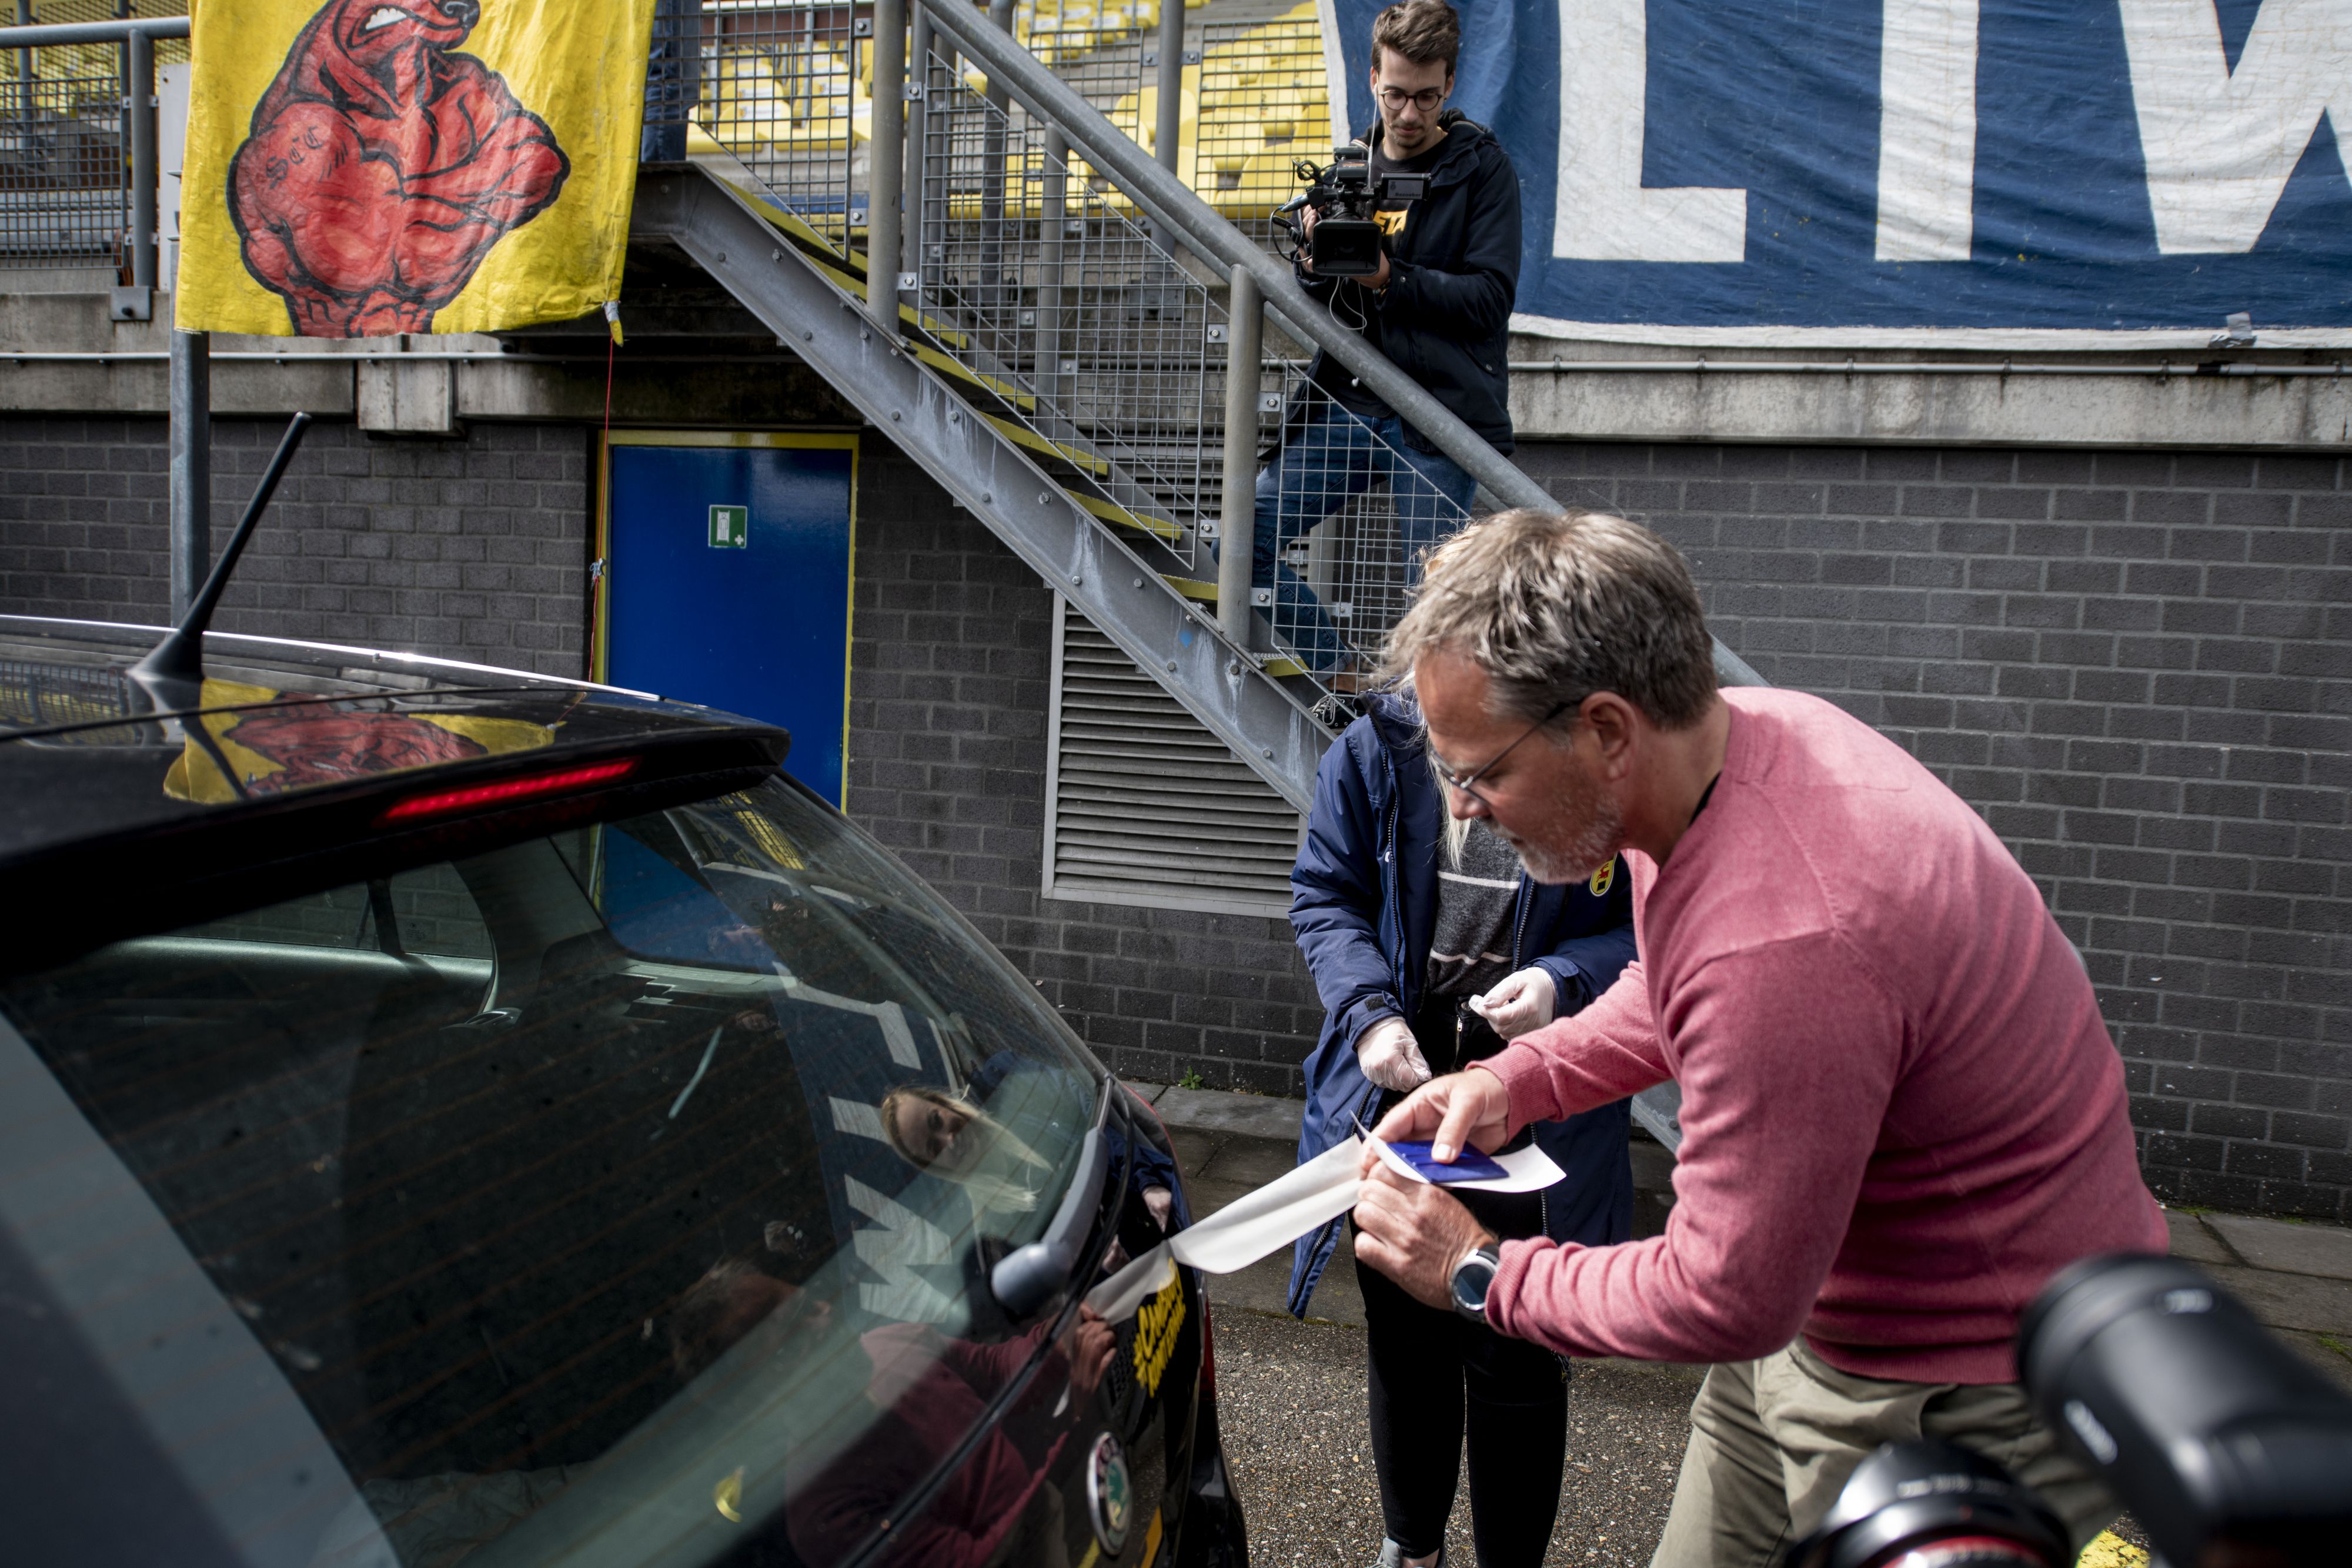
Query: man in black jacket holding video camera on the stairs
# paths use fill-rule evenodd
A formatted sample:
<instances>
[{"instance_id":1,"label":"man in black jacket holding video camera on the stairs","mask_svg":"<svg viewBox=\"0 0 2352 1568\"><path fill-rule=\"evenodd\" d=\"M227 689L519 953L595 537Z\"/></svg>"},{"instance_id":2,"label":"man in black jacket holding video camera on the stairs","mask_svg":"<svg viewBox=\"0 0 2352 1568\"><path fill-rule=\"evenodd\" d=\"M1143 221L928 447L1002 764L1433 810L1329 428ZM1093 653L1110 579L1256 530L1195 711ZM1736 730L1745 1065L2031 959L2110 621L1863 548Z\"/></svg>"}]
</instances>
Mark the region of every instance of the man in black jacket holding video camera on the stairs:
<instances>
[{"instance_id":1,"label":"man in black jacket holding video camera on the stairs","mask_svg":"<svg viewBox=\"0 0 2352 1568\"><path fill-rule=\"evenodd\" d=\"M1371 277L1315 277L1301 247L1298 280L1465 425L1510 451L1503 360L1519 287L1519 179L1486 127L1444 108L1458 52L1461 24L1444 0L1402 0L1374 19L1371 96L1381 118L1364 136L1371 174L1425 174L1428 193L1378 214L1388 233ZM1317 216L1315 207L1303 214L1310 242ZM1348 644L1315 590L1282 562L1282 548L1388 480L1414 583L1421 552L1442 522L1470 510L1477 480L1331 355L1315 355L1308 378L1319 393L1294 409L1282 451L1258 475L1251 581L1275 588L1275 628L1329 677L1341 672Z\"/></svg>"}]
</instances>

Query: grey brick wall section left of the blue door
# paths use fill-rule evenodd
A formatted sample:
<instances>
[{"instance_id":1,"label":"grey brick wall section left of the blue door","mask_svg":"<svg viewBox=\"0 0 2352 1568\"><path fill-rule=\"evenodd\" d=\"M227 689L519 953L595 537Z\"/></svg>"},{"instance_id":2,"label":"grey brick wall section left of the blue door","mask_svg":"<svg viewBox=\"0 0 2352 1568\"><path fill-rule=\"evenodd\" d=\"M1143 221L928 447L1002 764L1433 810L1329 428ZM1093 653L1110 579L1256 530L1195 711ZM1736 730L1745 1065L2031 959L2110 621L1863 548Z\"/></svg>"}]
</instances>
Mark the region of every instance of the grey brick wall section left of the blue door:
<instances>
[{"instance_id":1,"label":"grey brick wall section left of the blue door","mask_svg":"<svg viewBox=\"0 0 2352 1568\"><path fill-rule=\"evenodd\" d=\"M212 543L282 421L214 423ZM313 425L214 621L581 675L590 433L475 425L383 442ZM0 611L165 618L160 418L0 418Z\"/></svg>"}]
</instances>

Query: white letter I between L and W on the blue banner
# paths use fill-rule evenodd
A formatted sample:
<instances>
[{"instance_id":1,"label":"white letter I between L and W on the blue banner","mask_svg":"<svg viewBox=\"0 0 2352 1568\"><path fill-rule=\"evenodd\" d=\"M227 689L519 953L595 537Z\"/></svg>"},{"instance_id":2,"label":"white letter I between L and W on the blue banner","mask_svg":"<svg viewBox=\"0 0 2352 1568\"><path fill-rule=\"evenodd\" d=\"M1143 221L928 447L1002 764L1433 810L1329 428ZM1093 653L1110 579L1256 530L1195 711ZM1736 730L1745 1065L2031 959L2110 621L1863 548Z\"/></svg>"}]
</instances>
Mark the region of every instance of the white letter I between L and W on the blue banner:
<instances>
[{"instance_id":1,"label":"white letter I between L and W on the blue banner","mask_svg":"<svg viewBox=\"0 0 2352 1568\"><path fill-rule=\"evenodd\" d=\"M1879 261L1966 261L1976 237L1976 0L1886 0Z\"/></svg>"}]
</instances>

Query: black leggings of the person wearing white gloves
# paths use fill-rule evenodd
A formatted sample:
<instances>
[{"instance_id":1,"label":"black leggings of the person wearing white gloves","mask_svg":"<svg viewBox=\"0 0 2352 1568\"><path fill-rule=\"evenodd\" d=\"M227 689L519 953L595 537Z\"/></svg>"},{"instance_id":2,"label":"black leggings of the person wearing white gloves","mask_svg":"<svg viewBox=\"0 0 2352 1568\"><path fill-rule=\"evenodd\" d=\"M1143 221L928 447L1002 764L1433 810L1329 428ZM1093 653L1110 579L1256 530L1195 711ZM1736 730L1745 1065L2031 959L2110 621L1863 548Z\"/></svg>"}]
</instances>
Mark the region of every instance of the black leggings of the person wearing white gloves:
<instances>
[{"instance_id":1,"label":"black leggings of the person wearing white gloves","mask_svg":"<svg viewBox=\"0 0 2352 1568\"><path fill-rule=\"evenodd\" d=\"M1496 1234L1541 1229L1536 1194L1463 1197L1475 1199L1479 1220ZM1371 1462L1381 1474L1388 1537L1404 1556L1444 1544L1468 1425L1470 1535L1479 1568L1541 1563L1569 1455L1566 1366L1541 1345L1423 1307L1378 1269L1357 1269L1357 1279L1371 1349Z\"/></svg>"}]
</instances>

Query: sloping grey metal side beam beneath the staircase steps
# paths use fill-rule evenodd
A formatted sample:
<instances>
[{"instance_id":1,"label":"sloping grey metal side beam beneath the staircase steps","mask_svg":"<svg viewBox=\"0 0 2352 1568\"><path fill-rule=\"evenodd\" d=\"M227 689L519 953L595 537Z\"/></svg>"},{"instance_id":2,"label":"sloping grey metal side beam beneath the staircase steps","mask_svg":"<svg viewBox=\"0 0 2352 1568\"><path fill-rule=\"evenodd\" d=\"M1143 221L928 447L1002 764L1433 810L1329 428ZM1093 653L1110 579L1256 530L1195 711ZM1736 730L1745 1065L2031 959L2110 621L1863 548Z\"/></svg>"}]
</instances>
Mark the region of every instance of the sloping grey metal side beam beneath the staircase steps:
<instances>
[{"instance_id":1,"label":"sloping grey metal side beam beneath the staircase steps","mask_svg":"<svg viewBox=\"0 0 2352 1568\"><path fill-rule=\"evenodd\" d=\"M896 334L875 331L795 247L779 247L741 197L699 169L649 169L630 233L687 252L1291 806L1310 806L1331 736L1305 703L1237 656Z\"/></svg>"}]
</instances>

